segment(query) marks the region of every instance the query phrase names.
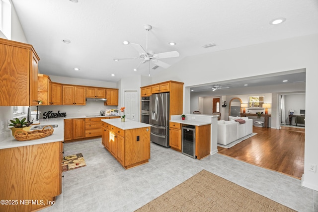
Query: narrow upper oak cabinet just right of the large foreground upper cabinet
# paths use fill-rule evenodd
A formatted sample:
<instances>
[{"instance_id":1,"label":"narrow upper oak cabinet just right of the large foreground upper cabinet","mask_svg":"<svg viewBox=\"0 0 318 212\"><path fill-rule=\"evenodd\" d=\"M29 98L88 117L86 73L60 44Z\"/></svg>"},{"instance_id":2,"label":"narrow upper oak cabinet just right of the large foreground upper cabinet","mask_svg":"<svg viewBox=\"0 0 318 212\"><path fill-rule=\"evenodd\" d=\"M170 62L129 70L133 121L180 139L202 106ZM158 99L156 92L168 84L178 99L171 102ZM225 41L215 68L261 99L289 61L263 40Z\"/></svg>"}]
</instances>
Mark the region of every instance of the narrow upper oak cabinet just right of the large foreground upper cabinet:
<instances>
[{"instance_id":1,"label":"narrow upper oak cabinet just right of the large foreground upper cabinet","mask_svg":"<svg viewBox=\"0 0 318 212\"><path fill-rule=\"evenodd\" d=\"M51 104L51 79L48 75L38 73L38 101L41 105Z\"/></svg>"}]
</instances>

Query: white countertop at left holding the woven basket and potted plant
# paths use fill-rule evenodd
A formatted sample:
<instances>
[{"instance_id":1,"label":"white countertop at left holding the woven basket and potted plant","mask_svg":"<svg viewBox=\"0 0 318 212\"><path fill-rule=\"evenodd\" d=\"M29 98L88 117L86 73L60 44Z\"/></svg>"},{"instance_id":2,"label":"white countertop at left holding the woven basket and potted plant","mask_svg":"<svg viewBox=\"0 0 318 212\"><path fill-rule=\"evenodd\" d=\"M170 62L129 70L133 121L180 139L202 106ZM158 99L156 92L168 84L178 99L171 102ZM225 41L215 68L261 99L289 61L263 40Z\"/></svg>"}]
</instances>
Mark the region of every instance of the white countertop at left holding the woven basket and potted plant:
<instances>
[{"instance_id":1,"label":"white countertop at left holding the woven basket and potted plant","mask_svg":"<svg viewBox=\"0 0 318 212\"><path fill-rule=\"evenodd\" d=\"M64 118L41 119L39 125L40 126L58 125L58 127L54 128L54 132L51 136L48 136L42 139L32 140L32 141L17 141L12 136L11 130L6 130L4 133L0 135L0 149L34 145L34 144L40 144L40 143L64 141ZM34 125L34 126L39 126L39 125ZM32 128L30 130L32 130Z\"/></svg>"}]
</instances>

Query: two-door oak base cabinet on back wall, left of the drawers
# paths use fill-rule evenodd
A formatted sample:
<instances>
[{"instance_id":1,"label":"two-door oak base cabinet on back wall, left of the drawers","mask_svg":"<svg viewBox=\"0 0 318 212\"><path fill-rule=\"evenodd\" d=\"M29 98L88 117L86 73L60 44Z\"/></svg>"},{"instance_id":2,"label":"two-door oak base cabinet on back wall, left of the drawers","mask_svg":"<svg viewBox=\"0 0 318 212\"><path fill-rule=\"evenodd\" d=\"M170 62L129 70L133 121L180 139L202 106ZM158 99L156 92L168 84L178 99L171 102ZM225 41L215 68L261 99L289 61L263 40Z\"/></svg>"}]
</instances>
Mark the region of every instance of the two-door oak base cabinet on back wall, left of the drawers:
<instances>
[{"instance_id":1,"label":"two-door oak base cabinet on back wall, left of the drawers","mask_svg":"<svg viewBox=\"0 0 318 212\"><path fill-rule=\"evenodd\" d=\"M64 120L64 141L85 138L85 119Z\"/></svg>"}]
</instances>

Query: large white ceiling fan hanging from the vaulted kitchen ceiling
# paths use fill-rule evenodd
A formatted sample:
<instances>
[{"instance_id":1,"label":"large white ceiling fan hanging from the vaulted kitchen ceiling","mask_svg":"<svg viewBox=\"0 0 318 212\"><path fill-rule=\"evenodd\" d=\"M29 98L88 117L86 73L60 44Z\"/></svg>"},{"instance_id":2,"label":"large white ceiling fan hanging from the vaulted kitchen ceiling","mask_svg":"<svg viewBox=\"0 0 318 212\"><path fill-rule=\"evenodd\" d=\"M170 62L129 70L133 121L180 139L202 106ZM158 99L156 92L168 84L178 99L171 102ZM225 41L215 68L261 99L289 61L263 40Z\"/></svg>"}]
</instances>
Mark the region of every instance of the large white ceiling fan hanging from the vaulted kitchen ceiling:
<instances>
[{"instance_id":1,"label":"large white ceiling fan hanging from the vaulted kitchen ceiling","mask_svg":"<svg viewBox=\"0 0 318 212\"><path fill-rule=\"evenodd\" d=\"M134 71L137 71L139 66L142 64L145 64L146 62L149 62L149 76L150 76L150 62L155 64L156 66L162 67L164 69L169 68L170 65L166 64L162 61L159 61L158 59L163 59L163 58L174 58L174 57L179 57L180 54L177 51L172 51L172 52L163 52L163 53L158 53L155 54L154 51L148 50L148 31L151 30L153 27L151 25L145 25L144 26L146 30L146 49L144 49L141 45L135 44L135 43L129 43L129 41L124 41L125 45L132 45L138 52L139 52L139 57L135 58L114 58L114 61L120 61L120 60L129 60L129 59L140 59L142 60L138 66L134 69ZM157 67L158 68L158 67Z\"/></svg>"}]
</instances>

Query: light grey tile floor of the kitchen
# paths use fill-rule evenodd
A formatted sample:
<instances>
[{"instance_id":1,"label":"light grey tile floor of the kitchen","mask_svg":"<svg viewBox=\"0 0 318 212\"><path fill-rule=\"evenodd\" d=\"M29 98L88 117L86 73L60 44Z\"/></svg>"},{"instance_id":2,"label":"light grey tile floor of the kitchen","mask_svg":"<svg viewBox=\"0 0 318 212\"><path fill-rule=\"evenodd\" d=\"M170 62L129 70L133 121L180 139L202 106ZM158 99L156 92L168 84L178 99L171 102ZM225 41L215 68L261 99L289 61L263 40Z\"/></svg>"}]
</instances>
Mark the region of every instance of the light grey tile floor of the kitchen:
<instances>
[{"instance_id":1,"label":"light grey tile floor of the kitchen","mask_svg":"<svg viewBox=\"0 0 318 212\"><path fill-rule=\"evenodd\" d=\"M64 155L76 153L86 166L64 172L62 194L41 212L133 212L202 169L296 211L318 211L318 192L300 180L218 153L198 160L151 143L149 163L129 170L101 139L65 143Z\"/></svg>"}]
</instances>

